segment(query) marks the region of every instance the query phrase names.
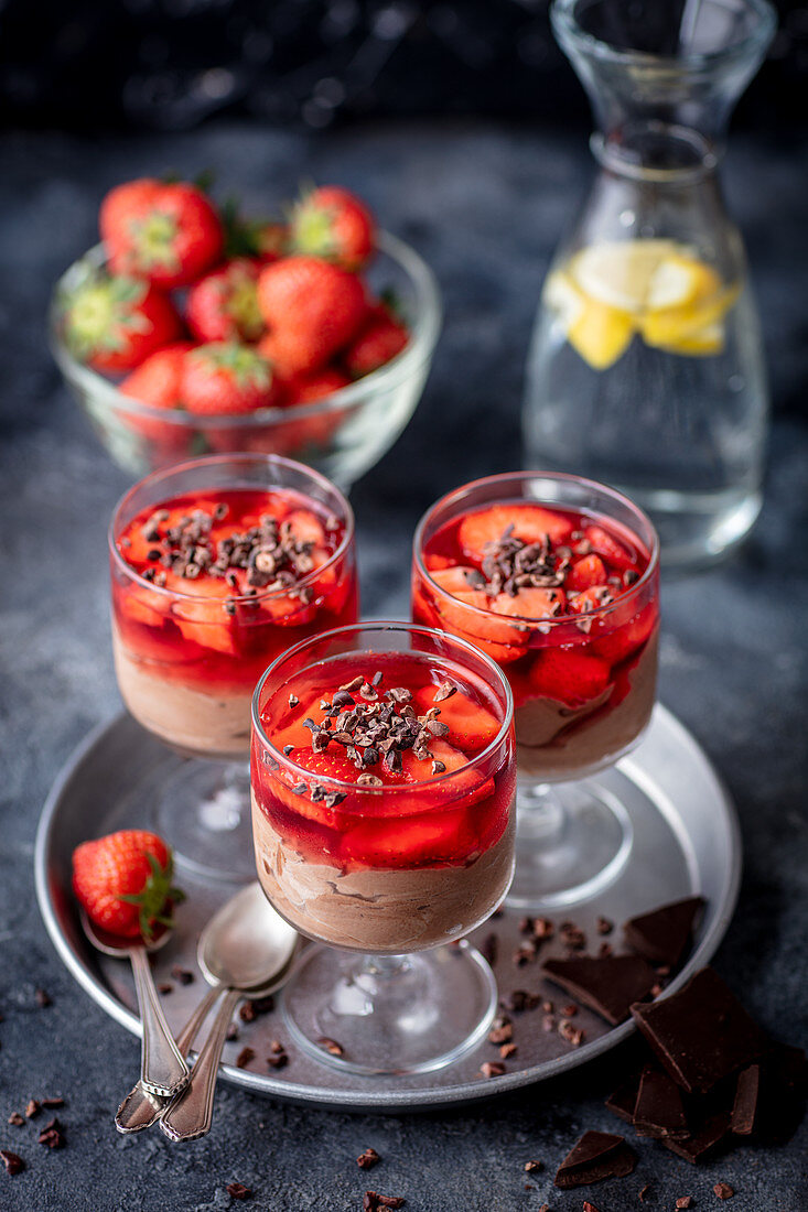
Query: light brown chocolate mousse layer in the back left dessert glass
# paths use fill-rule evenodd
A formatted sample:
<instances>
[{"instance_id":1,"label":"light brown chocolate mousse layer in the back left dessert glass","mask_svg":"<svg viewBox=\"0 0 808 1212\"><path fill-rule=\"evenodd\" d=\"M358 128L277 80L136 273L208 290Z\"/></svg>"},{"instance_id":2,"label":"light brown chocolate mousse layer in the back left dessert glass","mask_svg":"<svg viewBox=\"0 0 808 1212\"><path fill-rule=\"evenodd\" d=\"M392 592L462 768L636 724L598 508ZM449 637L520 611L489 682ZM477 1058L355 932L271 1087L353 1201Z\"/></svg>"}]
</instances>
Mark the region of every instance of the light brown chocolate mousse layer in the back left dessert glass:
<instances>
[{"instance_id":1,"label":"light brown chocolate mousse layer in the back left dessert glass","mask_svg":"<svg viewBox=\"0 0 808 1212\"><path fill-rule=\"evenodd\" d=\"M205 694L160 676L159 665L126 650L113 627L118 686L138 724L193 758L244 758L250 751L250 702L244 694Z\"/></svg>"}]
</instances>

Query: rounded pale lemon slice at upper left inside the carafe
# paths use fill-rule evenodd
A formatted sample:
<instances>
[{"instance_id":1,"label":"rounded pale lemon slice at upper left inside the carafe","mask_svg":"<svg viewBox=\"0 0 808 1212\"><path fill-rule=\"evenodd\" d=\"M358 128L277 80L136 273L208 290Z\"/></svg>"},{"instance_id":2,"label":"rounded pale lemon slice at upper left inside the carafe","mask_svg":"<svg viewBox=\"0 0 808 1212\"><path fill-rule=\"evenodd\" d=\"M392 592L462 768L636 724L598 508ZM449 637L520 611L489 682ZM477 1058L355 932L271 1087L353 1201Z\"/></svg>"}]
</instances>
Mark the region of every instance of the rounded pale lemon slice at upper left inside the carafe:
<instances>
[{"instance_id":1,"label":"rounded pale lemon slice at upper left inside the carafe","mask_svg":"<svg viewBox=\"0 0 808 1212\"><path fill-rule=\"evenodd\" d=\"M592 299L638 313L647 305L661 262L677 252L673 240L613 240L592 244L570 261L577 286Z\"/></svg>"}]
</instances>

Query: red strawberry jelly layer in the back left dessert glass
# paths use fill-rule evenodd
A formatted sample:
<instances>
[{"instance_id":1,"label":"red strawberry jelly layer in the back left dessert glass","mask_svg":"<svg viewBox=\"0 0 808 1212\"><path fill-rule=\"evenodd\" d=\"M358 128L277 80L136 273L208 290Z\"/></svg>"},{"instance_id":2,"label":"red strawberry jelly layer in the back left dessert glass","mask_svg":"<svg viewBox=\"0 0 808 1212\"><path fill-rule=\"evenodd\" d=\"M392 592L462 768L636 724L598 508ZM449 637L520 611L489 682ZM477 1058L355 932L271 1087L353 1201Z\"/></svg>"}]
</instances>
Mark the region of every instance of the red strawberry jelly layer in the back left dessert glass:
<instances>
[{"instance_id":1,"label":"red strawberry jelly layer in the back left dessert glass","mask_svg":"<svg viewBox=\"0 0 808 1212\"><path fill-rule=\"evenodd\" d=\"M197 574L176 571L166 551L170 537L201 511L211 525L197 545ZM215 574L220 544L275 519L292 538L311 544L312 572L289 591L254 583L247 567ZM355 621L357 577L346 553L325 565L340 547L345 526L324 507L291 490L229 488L204 496L172 497L137 514L116 537L127 576L113 561L113 614L120 639L136 659L159 678L215 694L250 692L267 664L298 640ZM317 573L323 568L322 574ZM268 581L268 577L258 578Z\"/></svg>"}]
</instances>

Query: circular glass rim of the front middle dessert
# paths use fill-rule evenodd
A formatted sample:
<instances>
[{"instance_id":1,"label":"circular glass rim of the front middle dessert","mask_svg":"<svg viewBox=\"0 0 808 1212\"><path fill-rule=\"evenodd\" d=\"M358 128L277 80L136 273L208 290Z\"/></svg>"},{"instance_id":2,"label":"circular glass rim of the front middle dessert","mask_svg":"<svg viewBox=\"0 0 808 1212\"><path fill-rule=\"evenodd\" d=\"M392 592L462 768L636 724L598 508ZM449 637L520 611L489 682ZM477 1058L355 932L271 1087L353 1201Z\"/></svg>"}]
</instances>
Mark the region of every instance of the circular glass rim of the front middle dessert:
<instances>
[{"instance_id":1,"label":"circular glass rim of the front middle dessert","mask_svg":"<svg viewBox=\"0 0 808 1212\"><path fill-rule=\"evenodd\" d=\"M279 653L279 656L277 656L275 659L269 665L267 665L264 671L261 674L256 684L255 691L252 692L252 704L251 704L252 728L254 732L257 734L261 744L272 753L273 758L278 760L278 766L283 766L285 770L289 770L295 774L300 774L302 778L308 778L308 779L312 778L311 770L306 770L305 766L298 766L296 762L291 761L291 759L288 758L281 749L278 749L273 744L273 742L267 736L263 724L261 722L258 701L261 698L261 691L263 690L267 678L273 673L273 670L278 668L278 665L281 664L281 662L286 661L290 657L298 656L303 648L311 647L320 642L322 640L330 640L336 636L346 635L353 631L406 631L409 635L412 635L415 633L419 635L437 638L444 644L446 642L446 640L449 640L451 644L460 645L461 648L468 650L468 652L471 652L471 654L477 661L480 661L486 667L488 671L494 675L493 680L496 682L497 686L502 688L502 699L505 702L505 715L500 725L500 728L496 733L496 737L493 741L490 741L485 745L485 748L480 750L480 753L476 754L472 759L470 759L463 766L460 766L457 770L448 770L443 774L434 774L432 778L420 779L417 783L400 783L392 787L385 785L381 788L358 787L355 783L349 783L346 779L334 778L332 776L328 774L323 776L318 774L317 776L318 783L323 783L328 787L338 788L340 790L348 789L351 791L369 796L396 795L399 791L400 793L406 791L411 795L414 787L415 788L437 787L440 783L446 783L446 781L451 778L456 778L463 771L474 770L477 766L482 765L490 756L493 756L493 754L496 751L496 749L499 749L502 742L507 739L507 736L511 732L511 728L513 727L513 693L511 691L511 685L506 675L502 673L502 670L500 669L500 667L496 664L495 661L493 661L485 652L478 648L470 640L465 640L462 636L455 635L453 631L443 631L436 627L423 627L421 623L406 623L403 619L371 618L371 619L362 619L362 622L359 623L347 623L343 627L334 627L330 628L328 631L320 631L318 635L308 636L305 640L300 640L296 645L294 645L294 647L286 648L285 652Z\"/></svg>"}]
</instances>

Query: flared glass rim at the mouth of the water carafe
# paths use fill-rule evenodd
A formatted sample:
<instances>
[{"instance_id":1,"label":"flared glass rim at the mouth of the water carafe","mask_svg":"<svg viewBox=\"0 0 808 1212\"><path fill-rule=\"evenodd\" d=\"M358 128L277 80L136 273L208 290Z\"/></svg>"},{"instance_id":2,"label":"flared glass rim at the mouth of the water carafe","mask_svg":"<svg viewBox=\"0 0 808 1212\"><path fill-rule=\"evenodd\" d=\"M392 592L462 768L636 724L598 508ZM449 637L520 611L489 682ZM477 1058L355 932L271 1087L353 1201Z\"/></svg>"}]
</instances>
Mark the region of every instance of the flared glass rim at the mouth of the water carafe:
<instances>
[{"instance_id":1,"label":"flared glass rim at the mouth of the water carafe","mask_svg":"<svg viewBox=\"0 0 808 1212\"><path fill-rule=\"evenodd\" d=\"M677 67L711 68L722 61L742 57L751 51L763 50L774 36L778 25L778 16L769 0L744 0L747 8L757 16L758 23L745 36L729 46L718 47L715 51L687 51L682 55L654 55L650 51L620 48L604 39L588 34L579 23L575 8L581 0L552 0L550 6L550 21L558 41L564 45L569 42L576 48L590 53L593 58L603 62L620 63L624 65L636 64L662 69L676 69Z\"/></svg>"}]
</instances>

